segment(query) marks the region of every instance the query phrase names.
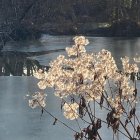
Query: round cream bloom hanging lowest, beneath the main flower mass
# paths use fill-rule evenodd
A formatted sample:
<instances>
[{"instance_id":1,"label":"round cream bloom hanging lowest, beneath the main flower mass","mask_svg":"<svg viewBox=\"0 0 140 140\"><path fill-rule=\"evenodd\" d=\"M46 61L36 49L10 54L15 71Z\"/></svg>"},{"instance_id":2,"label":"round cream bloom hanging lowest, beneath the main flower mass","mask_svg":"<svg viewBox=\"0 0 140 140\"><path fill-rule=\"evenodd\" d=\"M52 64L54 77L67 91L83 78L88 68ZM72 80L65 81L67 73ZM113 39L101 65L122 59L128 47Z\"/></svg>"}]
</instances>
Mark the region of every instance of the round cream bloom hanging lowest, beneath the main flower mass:
<instances>
[{"instance_id":1,"label":"round cream bloom hanging lowest, beneath the main flower mass","mask_svg":"<svg viewBox=\"0 0 140 140\"><path fill-rule=\"evenodd\" d=\"M78 112L77 112L78 107L79 105L77 103L73 103L73 104L65 103L63 106L64 116L70 120L74 120L78 118Z\"/></svg>"}]
</instances>

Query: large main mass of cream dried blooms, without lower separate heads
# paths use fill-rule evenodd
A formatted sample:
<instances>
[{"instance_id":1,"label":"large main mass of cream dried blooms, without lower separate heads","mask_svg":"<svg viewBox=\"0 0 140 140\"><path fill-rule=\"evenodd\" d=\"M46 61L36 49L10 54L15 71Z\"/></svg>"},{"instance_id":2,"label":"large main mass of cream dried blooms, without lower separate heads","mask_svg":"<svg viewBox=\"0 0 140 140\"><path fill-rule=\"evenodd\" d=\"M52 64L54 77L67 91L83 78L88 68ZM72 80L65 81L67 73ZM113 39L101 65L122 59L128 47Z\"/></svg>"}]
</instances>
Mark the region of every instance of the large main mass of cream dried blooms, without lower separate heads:
<instances>
[{"instance_id":1,"label":"large main mass of cream dried blooms, without lower separate heads","mask_svg":"<svg viewBox=\"0 0 140 140\"><path fill-rule=\"evenodd\" d=\"M75 37L74 42L72 48L66 48L68 57L59 55L50 63L47 73L39 70L34 74L40 79L40 89L54 87L55 95L60 98L82 95L89 102L100 99L107 80L112 79L125 99L134 99L134 86L130 86L125 73L138 72L136 64L130 65L127 57L122 58L124 73L119 73L109 51L103 49L97 54L87 53L85 46L89 41L83 36Z\"/></svg>"}]
</instances>

